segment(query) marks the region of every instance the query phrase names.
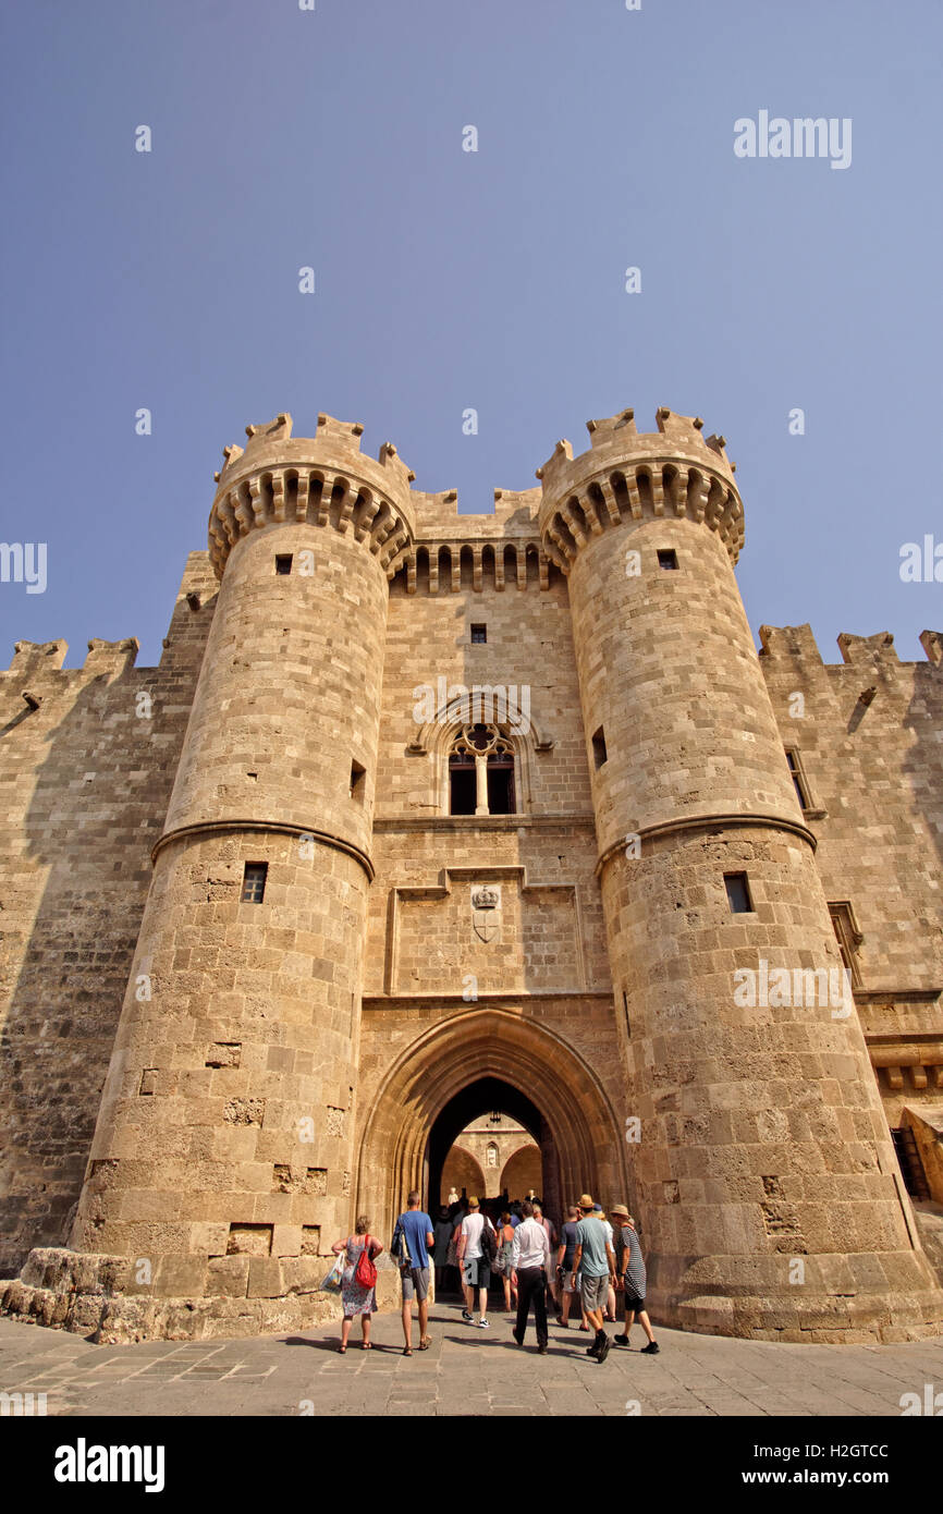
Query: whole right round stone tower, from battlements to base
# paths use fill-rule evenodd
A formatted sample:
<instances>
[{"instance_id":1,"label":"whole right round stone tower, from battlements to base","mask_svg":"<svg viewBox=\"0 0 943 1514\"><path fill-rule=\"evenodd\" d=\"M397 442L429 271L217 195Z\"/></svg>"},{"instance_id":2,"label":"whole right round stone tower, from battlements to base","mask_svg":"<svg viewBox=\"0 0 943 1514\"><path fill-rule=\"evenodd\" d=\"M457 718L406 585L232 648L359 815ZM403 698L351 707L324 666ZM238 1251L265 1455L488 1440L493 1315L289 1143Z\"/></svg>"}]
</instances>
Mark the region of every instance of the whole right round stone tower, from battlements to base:
<instances>
[{"instance_id":1,"label":"whole right round stone tower, from battlements to base","mask_svg":"<svg viewBox=\"0 0 943 1514\"><path fill-rule=\"evenodd\" d=\"M649 1308L776 1340L919 1334L943 1294L734 578L733 465L699 419L657 424L590 421L587 453L560 442L537 472L569 578Z\"/></svg>"}]
</instances>

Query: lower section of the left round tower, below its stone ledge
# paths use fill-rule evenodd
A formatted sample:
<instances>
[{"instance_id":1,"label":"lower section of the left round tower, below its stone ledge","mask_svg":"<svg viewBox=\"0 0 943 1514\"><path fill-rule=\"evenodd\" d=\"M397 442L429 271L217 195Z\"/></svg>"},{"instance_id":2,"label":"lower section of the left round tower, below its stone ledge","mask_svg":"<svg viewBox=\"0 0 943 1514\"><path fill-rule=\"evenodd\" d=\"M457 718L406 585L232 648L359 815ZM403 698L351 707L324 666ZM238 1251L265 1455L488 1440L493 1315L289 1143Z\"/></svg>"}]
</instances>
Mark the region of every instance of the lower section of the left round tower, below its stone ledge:
<instances>
[{"instance_id":1,"label":"lower section of the left round tower, below its stone ledge","mask_svg":"<svg viewBox=\"0 0 943 1514\"><path fill-rule=\"evenodd\" d=\"M265 901L239 902L259 855ZM159 1293L257 1297L338 1238L365 895L359 861L324 848L313 868L289 836L160 851L135 957L151 996L132 980L76 1249L150 1260Z\"/></svg>"}]
</instances>

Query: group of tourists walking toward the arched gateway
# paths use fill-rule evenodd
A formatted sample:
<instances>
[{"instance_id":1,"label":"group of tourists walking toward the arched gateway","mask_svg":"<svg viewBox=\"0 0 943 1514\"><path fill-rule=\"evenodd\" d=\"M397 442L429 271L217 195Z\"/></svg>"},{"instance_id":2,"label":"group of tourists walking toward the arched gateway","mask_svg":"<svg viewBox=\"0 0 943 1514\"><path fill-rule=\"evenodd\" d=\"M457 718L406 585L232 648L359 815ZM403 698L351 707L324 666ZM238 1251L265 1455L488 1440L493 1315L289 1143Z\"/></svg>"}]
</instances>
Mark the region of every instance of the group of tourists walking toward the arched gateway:
<instances>
[{"instance_id":1,"label":"group of tourists walking toward the arched gateway","mask_svg":"<svg viewBox=\"0 0 943 1514\"><path fill-rule=\"evenodd\" d=\"M496 1275L504 1290L504 1313L515 1316L518 1346L524 1346L533 1308L539 1355L545 1355L549 1346L551 1313L562 1329L569 1329L571 1314L578 1313L578 1328L593 1335L586 1355L598 1363L605 1361L613 1343L628 1346L636 1320L648 1341L642 1352L657 1354L658 1344L645 1310L645 1258L636 1223L624 1204L613 1204L605 1214L592 1195L583 1193L580 1202L566 1211L559 1234L536 1196L509 1204L493 1217L480 1199L459 1199L442 1205L434 1223L419 1204L419 1193L413 1190L391 1241L403 1287L404 1357L413 1354L413 1301L419 1314L418 1349L428 1350L430 1346L428 1284L433 1266L437 1297L448 1291L453 1269L457 1272L462 1319L478 1329L490 1328L487 1299ZM347 1350L351 1325L360 1319L363 1349L369 1350L371 1317L377 1308L375 1261L384 1248L371 1235L369 1219L360 1216L356 1232L335 1241L331 1251L338 1258L344 1257L339 1349L342 1354ZM624 1329L610 1335L605 1322L618 1322L619 1299Z\"/></svg>"}]
</instances>

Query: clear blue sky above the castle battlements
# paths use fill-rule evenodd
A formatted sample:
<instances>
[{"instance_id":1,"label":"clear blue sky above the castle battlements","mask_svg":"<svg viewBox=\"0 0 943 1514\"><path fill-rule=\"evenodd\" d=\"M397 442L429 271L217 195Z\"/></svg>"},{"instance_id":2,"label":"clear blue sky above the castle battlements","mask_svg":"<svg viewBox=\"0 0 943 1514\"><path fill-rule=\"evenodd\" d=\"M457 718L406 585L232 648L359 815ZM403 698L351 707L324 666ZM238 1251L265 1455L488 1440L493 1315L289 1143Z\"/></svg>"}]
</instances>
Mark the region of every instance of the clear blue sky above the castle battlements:
<instances>
[{"instance_id":1,"label":"clear blue sky above the castle battlements","mask_svg":"<svg viewBox=\"0 0 943 1514\"><path fill-rule=\"evenodd\" d=\"M922 659L943 627L899 577L943 540L938 0L6 0L0 32L0 533L48 544L45 593L0 584L3 662L156 662L221 448L279 410L463 510L590 416L702 415L754 631ZM851 118L851 167L736 157L761 109Z\"/></svg>"}]
</instances>

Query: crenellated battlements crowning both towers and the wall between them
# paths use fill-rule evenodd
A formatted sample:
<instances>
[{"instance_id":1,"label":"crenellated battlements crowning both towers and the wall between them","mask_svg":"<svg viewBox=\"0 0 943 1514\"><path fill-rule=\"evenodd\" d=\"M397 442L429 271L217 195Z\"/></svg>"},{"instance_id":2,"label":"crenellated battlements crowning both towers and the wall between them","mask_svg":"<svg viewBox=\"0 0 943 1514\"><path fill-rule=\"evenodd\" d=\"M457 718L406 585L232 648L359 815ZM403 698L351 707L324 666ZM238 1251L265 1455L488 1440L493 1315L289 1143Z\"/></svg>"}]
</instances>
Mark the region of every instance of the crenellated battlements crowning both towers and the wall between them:
<instances>
[{"instance_id":1,"label":"crenellated battlements crowning both towers and the wall between them","mask_svg":"<svg viewBox=\"0 0 943 1514\"><path fill-rule=\"evenodd\" d=\"M292 438L292 418L282 412L266 425L247 425L244 448L224 448L209 518L213 569L223 575L229 553L250 530L307 521L330 524L341 533L353 528L389 578L406 572L410 592L421 548L431 563L440 547L460 559L465 548L480 556L489 542L519 544L522 537L545 560L540 577L546 580L551 562L569 571L572 554L587 536L624 516L645 515L687 515L705 522L736 562L743 542L743 506L725 438L704 438L699 416L666 407L657 410L652 433L639 433L634 410L586 424L589 451L574 459L571 444L557 442L537 469L539 491L495 489L493 515L460 516L454 489L410 489L415 474L392 442L380 447L377 462L363 456L360 422L319 413L313 438ZM518 556L525 557L527 548ZM503 580L498 569L496 587Z\"/></svg>"}]
</instances>

